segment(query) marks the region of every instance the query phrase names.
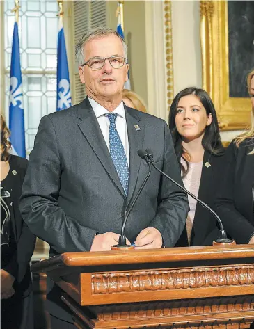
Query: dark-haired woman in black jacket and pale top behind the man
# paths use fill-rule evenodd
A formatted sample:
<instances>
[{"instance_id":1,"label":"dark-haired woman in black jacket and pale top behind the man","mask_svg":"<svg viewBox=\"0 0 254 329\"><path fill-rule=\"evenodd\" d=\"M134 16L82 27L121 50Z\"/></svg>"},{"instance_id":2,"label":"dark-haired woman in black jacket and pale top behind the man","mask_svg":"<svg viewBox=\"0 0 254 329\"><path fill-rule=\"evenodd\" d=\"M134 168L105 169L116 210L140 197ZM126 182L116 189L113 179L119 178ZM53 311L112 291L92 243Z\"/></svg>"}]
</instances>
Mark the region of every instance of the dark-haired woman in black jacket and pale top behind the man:
<instances>
[{"instance_id":1,"label":"dark-haired woman in black jacket and pale top behind the man","mask_svg":"<svg viewBox=\"0 0 254 329\"><path fill-rule=\"evenodd\" d=\"M186 88L173 100L169 128L187 190L212 209L223 166L224 147L212 99L203 89ZM189 197L190 211L176 246L209 246L217 239L216 219Z\"/></svg>"}]
</instances>

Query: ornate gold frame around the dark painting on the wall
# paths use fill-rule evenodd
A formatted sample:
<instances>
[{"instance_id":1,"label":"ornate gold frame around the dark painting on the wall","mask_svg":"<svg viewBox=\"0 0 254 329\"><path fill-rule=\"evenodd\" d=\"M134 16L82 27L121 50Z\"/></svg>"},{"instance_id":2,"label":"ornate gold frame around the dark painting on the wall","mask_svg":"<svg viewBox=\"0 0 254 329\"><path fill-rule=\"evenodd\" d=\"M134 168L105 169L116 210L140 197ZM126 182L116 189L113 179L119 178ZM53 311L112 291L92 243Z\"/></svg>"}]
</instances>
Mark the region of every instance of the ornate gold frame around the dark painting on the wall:
<instances>
[{"instance_id":1,"label":"ornate gold frame around the dark painting on the wall","mask_svg":"<svg viewBox=\"0 0 254 329\"><path fill-rule=\"evenodd\" d=\"M250 125L250 99L230 97L228 1L201 0L200 15L203 88L212 97L221 130L245 129Z\"/></svg>"}]
</instances>

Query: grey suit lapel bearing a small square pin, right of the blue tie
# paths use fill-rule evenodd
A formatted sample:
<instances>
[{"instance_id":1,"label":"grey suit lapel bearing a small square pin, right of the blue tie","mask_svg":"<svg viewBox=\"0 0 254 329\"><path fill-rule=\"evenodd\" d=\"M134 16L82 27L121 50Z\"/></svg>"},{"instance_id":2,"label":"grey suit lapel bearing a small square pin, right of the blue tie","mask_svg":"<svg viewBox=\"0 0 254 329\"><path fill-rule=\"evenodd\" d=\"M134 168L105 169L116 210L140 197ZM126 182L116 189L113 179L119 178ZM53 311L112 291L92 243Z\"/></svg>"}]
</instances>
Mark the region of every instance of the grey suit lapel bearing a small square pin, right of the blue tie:
<instances>
[{"instance_id":1,"label":"grey suit lapel bearing a small square pin, right of the blue tie","mask_svg":"<svg viewBox=\"0 0 254 329\"><path fill-rule=\"evenodd\" d=\"M143 147L145 126L136 111L125 106L125 113L129 139L129 187L126 204L126 207L128 207L130 200L132 200L135 186L137 185L138 172L141 164L138 150Z\"/></svg>"}]
</instances>

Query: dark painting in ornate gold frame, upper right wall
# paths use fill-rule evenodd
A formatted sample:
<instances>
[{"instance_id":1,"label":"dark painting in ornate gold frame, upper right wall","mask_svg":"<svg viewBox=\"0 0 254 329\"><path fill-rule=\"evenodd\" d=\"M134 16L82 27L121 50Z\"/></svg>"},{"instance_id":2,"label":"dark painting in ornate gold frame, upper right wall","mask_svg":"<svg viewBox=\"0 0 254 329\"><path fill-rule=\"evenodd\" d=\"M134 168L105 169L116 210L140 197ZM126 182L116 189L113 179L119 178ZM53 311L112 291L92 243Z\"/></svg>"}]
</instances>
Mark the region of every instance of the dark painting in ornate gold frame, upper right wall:
<instances>
[{"instance_id":1,"label":"dark painting in ornate gold frame, upper right wall","mask_svg":"<svg viewBox=\"0 0 254 329\"><path fill-rule=\"evenodd\" d=\"M254 1L200 1L203 88L221 130L250 125L246 78L254 67Z\"/></svg>"}]
</instances>

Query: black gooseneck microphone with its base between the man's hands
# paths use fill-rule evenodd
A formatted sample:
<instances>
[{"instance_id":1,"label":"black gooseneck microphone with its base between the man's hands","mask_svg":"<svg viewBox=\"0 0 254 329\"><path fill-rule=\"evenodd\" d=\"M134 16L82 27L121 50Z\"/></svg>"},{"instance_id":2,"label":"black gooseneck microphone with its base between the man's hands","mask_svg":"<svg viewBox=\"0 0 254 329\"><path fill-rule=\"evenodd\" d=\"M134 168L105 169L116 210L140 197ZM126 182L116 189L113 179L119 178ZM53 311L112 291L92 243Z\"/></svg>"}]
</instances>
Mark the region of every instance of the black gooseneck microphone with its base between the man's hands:
<instances>
[{"instance_id":1,"label":"black gooseneck microphone with its base between the man's hands","mask_svg":"<svg viewBox=\"0 0 254 329\"><path fill-rule=\"evenodd\" d=\"M149 166L148 174L145 176L145 179L144 179L141 187L139 188L138 193L136 193L136 196L135 196L132 204L130 204L128 209L125 209L125 219L122 223L121 235L119 236L118 245L113 246L114 249L130 247L129 245L126 244L126 236L125 236L125 226L127 223L127 219L129 217L130 212L132 211L132 208L134 207L134 204L136 203L136 200L138 200L138 196L142 192L142 190L151 174L152 166L151 166L151 163L149 162L148 155L143 150L138 150L138 155L142 159L145 159L143 157L146 157L146 159L148 160L148 166Z\"/></svg>"}]
</instances>

